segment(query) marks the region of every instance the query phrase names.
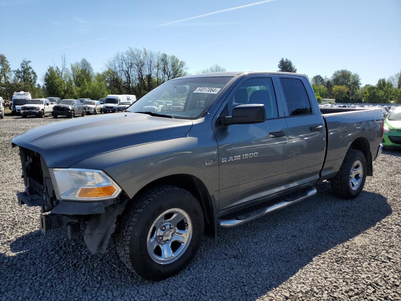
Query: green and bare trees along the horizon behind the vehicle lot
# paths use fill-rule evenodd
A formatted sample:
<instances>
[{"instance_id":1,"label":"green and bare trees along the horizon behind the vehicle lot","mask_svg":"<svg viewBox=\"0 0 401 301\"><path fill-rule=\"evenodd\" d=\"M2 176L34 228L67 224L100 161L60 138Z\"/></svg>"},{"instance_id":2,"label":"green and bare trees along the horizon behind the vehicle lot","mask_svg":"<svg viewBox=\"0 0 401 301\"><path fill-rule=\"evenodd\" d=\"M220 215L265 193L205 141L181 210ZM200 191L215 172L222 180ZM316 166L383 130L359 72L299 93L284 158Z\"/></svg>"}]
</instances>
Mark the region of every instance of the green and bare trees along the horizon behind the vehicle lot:
<instances>
[{"instance_id":1,"label":"green and bare trees along the horizon behind the vehicle lot","mask_svg":"<svg viewBox=\"0 0 401 301\"><path fill-rule=\"evenodd\" d=\"M37 83L37 74L23 59L18 69L12 70L5 55L0 54L0 95L11 100L18 91L29 91L34 98L55 96L62 99L91 98L97 100L107 94L134 94L137 98L170 79L188 75L186 63L174 55L158 51L129 47L107 59L101 72L94 72L86 59L68 64L65 55L60 65L50 65L43 75L43 85ZM297 72L289 59L280 59L278 71ZM196 71L211 73L226 71L215 64ZM319 102L334 98L340 103L401 103L401 73L387 80L379 79L376 85L361 87L358 73L337 70L333 75L315 75L312 87Z\"/></svg>"}]
</instances>

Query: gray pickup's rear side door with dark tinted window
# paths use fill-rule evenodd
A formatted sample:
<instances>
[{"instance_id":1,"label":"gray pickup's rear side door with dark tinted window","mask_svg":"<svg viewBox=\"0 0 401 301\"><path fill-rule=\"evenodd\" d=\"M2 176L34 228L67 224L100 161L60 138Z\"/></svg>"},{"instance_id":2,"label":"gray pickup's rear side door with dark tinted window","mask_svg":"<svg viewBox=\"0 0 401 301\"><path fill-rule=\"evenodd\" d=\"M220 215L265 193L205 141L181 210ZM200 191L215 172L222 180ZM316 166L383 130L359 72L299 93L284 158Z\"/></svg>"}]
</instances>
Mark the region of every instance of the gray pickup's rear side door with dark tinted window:
<instances>
[{"instance_id":1,"label":"gray pickup's rear side door with dark tinted window","mask_svg":"<svg viewBox=\"0 0 401 301\"><path fill-rule=\"evenodd\" d=\"M276 75L276 78L288 127L288 189L319 178L326 129L309 81L293 75Z\"/></svg>"}]
</instances>

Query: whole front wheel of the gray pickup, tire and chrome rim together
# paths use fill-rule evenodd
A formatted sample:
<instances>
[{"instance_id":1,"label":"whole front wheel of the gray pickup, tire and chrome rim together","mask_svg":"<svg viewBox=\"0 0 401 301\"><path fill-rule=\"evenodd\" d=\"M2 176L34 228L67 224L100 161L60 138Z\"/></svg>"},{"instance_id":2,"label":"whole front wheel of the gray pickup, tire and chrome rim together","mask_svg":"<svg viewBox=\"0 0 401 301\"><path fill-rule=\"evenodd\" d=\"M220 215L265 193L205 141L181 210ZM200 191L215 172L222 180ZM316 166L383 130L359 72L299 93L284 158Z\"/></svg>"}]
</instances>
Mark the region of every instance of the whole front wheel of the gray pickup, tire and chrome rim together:
<instances>
[{"instance_id":1,"label":"whole front wheel of the gray pickup, tire and chrome rim together","mask_svg":"<svg viewBox=\"0 0 401 301\"><path fill-rule=\"evenodd\" d=\"M142 195L117 226L117 252L132 271L160 281L180 273L203 238L203 211L188 191L170 185Z\"/></svg>"}]
</instances>

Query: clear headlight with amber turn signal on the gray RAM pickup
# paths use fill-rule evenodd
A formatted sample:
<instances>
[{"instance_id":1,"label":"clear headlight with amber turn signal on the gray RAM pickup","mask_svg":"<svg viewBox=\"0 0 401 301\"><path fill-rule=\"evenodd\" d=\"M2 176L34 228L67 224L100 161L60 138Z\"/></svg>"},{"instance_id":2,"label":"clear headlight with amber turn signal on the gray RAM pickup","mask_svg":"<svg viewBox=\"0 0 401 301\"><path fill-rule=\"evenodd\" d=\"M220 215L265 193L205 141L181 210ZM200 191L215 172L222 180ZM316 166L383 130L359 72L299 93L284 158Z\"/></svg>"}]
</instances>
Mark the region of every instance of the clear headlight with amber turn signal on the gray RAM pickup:
<instances>
[{"instance_id":1,"label":"clear headlight with amber turn signal on the gray RAM pickup","mask_svg":"<svg viewBox=\"0 0 401 301\"><path fill-rule=\"evenodd\" d=\"M61 199L98 201L113 199L121 188L103 171L97 169L50 169Z\"/></svg>"}]
</instances>

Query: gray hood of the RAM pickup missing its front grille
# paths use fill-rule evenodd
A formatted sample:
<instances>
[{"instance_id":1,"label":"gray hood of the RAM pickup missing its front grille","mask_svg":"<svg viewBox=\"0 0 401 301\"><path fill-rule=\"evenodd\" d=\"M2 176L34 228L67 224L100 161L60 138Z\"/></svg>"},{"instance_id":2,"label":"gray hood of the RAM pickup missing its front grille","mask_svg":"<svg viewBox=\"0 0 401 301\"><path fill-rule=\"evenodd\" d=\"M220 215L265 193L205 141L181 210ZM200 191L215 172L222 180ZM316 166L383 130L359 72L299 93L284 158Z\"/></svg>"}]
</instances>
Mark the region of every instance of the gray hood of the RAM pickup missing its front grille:
<instances>
[{"instance_id":1,"label":"gray hood of the RAM pickup missing its front grille","mask_svg":"<svg viewBox=\"0 0 401 301\"><path fill-rule=\"evenodd\" d=\"M48 167L69 167L112 150L184 137L191 126L191 120L107 114L39 126L11 142L41 154Z\"/></svg>"}]
</instances>

